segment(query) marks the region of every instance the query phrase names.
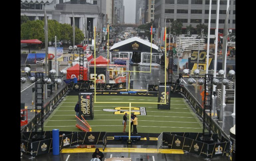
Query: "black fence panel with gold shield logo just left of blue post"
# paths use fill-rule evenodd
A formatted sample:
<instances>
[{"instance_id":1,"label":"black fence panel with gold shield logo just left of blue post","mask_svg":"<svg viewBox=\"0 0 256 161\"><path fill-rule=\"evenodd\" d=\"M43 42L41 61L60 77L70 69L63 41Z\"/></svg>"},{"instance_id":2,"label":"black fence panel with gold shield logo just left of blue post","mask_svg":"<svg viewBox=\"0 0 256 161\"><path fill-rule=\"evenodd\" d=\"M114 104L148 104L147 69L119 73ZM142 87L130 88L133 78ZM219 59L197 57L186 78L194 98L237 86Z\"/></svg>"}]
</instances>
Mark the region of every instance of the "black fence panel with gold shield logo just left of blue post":
<instances>
[{"instance_id":1,"label":"black fence panel with gold shield logo just left of blue post","mask_svg":"<svg viewBox=\"0 0 256 161\"><path fill-rule=\"evenodd\" d=\"M41 141L32 142L32 156L49 153L53 150L52 138Z\"/></svg>"}]
</instances>

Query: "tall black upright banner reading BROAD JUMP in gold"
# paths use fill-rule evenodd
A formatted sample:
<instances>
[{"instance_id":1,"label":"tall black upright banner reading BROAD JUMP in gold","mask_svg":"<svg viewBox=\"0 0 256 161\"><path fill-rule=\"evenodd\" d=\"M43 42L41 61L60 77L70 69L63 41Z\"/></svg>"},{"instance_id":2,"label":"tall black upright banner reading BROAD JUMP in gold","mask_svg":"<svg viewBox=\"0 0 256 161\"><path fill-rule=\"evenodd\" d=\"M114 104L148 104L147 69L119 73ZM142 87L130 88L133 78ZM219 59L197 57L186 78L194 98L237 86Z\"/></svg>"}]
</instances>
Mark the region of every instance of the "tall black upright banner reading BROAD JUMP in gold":
<instances>
[{"instance_id":1,"label":"tall black upright banner reading BROAD JUMP in gold","mask_svg":"<svg viewBox=\"0 0 256 161\"><path fill-rule=\"evenodd\" d=\"M79 118L81 115L85 120L93 120L93 93L79 93Z\"/></svg>"}]
</instances>

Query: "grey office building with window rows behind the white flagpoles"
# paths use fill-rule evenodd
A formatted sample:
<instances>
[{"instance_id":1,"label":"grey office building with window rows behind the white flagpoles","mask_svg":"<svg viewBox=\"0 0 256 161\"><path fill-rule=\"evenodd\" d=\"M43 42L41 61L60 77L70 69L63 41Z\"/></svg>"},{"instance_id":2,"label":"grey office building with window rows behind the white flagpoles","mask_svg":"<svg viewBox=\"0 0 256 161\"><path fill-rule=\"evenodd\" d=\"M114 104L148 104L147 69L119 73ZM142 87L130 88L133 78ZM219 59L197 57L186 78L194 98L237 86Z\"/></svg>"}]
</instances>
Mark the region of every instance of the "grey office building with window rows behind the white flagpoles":
<instances>
[{"instance_id":1,"label":"grey office building with window rows behind the white flagpoles","mask_svg":"<svg viewBox=\"0 0 256 161\"><path fill-rule=\"evenodd\" d=\"M228 28L235 30L235 0L229 1L229 23ZM224 28L226 16L227 0L220 0L219 7L219 29ZM214 35L216 28L217 0L212 0L211 5L211 35ZM175 20L183 23L183 28L189 25L196 27L197 24L208 25L209 16L209 0L155 0L154 25L158 26L160 18L160 26L164 27L165 18L167 27L169 20L171 23ZM222 32L223 33L223 32Z\"/></svg>"}]
</instances>

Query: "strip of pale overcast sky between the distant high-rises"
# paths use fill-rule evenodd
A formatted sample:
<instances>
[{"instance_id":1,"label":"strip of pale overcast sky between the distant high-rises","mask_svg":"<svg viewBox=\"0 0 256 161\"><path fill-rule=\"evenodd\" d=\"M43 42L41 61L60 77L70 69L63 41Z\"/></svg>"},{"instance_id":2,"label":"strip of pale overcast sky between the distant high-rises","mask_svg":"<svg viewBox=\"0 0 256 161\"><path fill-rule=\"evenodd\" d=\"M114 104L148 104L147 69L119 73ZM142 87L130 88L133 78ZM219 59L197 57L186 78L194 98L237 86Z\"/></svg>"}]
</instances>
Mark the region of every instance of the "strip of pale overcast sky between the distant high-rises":
<instances>
[{"instance_id":1,"label":"strip of pale overcast sky between the distant high-rises","mask_svg":"<svg viewBox=\"0 0 256 161\"><path fill-rule=\"evenodd\" d=\"M124 23L135 24L136 0L124 0Z\"/></svg>"}]
</instances>

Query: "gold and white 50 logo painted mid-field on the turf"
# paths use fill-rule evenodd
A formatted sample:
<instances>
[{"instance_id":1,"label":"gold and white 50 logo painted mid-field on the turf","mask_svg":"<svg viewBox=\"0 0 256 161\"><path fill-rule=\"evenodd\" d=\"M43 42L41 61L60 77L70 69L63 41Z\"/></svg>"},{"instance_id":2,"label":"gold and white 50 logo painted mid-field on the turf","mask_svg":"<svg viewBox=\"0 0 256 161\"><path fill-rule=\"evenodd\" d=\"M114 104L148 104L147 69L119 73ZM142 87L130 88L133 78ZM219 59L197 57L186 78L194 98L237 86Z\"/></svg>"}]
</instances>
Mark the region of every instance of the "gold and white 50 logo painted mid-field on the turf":
<instances>
[{"instance_id":1,"label":"gold and white 50 logo painted mid-field on the turf","mask_svg":"<svg viewBox=\"0 0 256 161\"><path fill-rule=\"evenodd\" d=\"M102 109L102 111L114 112L115 115L130 114L129 107L115 107L114 109ZM131 107L131 113L134 115L147 115L145 107Z\"/></svg>"}]
</instances>

